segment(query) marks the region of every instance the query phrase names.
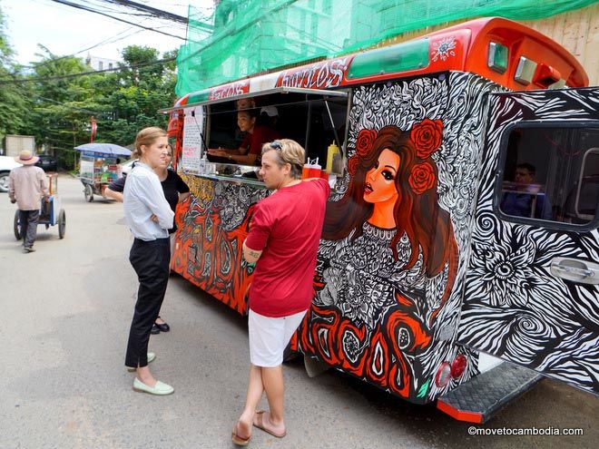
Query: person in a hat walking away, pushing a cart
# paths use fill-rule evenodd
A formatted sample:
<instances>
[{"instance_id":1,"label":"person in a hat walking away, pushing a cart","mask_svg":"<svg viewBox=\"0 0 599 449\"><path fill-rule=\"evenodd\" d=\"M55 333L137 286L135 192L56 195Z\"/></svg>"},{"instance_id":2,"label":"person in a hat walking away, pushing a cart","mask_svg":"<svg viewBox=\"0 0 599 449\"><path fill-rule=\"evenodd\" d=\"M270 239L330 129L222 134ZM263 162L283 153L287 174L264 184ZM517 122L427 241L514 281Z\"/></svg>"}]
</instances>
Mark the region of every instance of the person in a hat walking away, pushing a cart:
<instances>
[{"instance_id":1,"label":"person in a hat walking away, pushing a cart","mask_svg":"<svg viewBox=\"0 0 599 449\"><path fill-rule=\"evenodd\" d=\"M31 151L21 151L15 161L23 164L10 171L8 175L8 198L19 208L21 235L25 253L34 252L37 236L37 220L40 217L40 200L48 200L48 180L44 170L35 167L40 158Z\"/></svg>"}]
</instances>

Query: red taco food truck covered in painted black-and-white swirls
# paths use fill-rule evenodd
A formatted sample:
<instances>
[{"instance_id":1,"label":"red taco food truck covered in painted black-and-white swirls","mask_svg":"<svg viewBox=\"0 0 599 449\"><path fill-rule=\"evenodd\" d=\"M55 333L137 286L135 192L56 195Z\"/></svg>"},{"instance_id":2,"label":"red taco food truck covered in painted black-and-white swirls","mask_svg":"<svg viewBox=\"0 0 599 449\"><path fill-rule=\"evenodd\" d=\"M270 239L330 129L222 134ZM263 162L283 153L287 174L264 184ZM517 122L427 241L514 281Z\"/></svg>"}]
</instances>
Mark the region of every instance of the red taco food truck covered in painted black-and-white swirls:
<instances>
[{"instance_id":1,"label":"red taco food truck covered in painted black-and-white swirls","mask_svg":"<svg viewBox=\"0 0 599 449\"><path fill-rule=\"evenodd\" d=\"M189 93L164 111L191 188L172 269L247 313L241 244L271 192L257 168L204 153L236 148L237 102L252 98L310 160L324 167L335 142L344 161L290 350L470 422L540 376L597 395L599 88L587 85L559 44L484 18Z\"/></svg>"}]
</instances>

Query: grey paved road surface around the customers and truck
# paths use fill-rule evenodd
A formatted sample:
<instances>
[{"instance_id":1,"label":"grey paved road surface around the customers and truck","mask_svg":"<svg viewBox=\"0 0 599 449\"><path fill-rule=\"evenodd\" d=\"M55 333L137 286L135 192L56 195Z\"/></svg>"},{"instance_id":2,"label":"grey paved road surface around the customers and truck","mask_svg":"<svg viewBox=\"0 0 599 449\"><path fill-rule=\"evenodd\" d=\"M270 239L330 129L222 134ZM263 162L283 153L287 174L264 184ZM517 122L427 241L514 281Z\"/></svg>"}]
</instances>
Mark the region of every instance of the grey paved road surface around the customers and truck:
<instances>
[{"instance_id":1,"label":"grey paved road surface around the customers and truck","mask_svg":"<svg viewBox=\"0 0 599 449\"><path fill-rule=\"evenodd\" d=\"M0 194L0 448L229 448L247 383L247 326L228 307L172 277L152 336L152 371L175 387L133 392L123 367L133 314L131 238L120 204L86 203L61 177L66 237L39 227L37 252L12 234L15 207ZM433 406L409 405L349 376L285 368L288 436L255 432L253 447L596 447L599 401L544 380L486 429L580 427L584 436L470 436Z\"/></svg>"}]
</instances>

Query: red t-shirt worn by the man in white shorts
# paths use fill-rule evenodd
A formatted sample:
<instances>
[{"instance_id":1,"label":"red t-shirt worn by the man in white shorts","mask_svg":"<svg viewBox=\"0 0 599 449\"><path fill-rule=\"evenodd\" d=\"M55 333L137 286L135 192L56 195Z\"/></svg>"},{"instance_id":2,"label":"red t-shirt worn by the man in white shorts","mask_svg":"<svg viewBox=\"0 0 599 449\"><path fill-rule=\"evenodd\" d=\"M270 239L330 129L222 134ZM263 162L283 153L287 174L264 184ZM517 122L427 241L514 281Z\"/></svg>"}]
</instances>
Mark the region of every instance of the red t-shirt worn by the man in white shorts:
<instances>
[{"instance_id":1,"label":"red t-shirt worn by the man in white shorts","mask_svg":"<svg viewBox=\"0 0 599 449\"><path fill-rule=\"evenodd\" d=\"M245 241L262 251L250 287L254 312L287 317L309 308L329 192L327 181L304 181L256 204Z\"/></svg>"}]
</instances>

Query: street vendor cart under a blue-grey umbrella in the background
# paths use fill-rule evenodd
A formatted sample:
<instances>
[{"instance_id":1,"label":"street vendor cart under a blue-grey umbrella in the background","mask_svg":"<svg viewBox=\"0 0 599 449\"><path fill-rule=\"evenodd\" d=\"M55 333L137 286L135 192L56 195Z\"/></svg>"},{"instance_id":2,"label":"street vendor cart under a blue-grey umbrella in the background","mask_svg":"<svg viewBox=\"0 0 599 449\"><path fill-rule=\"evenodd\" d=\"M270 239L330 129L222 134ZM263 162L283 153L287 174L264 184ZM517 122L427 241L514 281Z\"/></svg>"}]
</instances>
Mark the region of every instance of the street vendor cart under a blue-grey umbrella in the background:
<instances>
[{"instance_id":1,"label":"street vendor cart under a blue-grey umbrella in the background","mask_svg":"<svg viewBox=\"0 0 599 449\"><path fill-rule=\"evenodd\" d=\"M86 143L75 150L81 151L79 179L85 200L93 201L93 195L106 198L104 190L121 176L121 159L129 158L131 151L113 143Z\"/></svg>"}]
</instances>

